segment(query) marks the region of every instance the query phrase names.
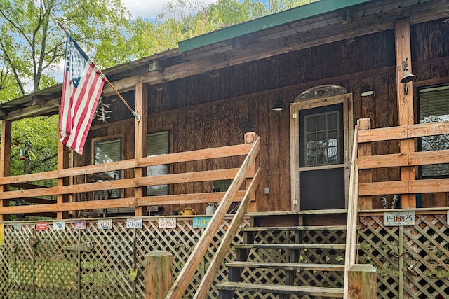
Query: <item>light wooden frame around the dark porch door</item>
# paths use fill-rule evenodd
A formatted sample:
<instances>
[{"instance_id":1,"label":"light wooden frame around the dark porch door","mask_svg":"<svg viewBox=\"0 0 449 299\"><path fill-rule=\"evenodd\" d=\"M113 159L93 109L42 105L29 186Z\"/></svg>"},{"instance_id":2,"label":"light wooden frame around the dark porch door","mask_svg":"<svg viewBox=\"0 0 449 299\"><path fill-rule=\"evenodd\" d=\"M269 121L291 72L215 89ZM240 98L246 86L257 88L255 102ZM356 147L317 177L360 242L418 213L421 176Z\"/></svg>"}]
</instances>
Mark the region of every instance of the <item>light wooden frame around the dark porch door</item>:
<instances>
[{"instance_id":1,"label":"light wooden frame around the dark porch door","mask_svg":"<svg viewBox=\"0 0 449 299\"><path fill-rule=\"evenodd\" d=\"M329 169L344 167L344 207L348 205L349 194L349 162L351 161L351 144L354 139L354 111L352 93L305 99L290 104L290 186L291 207L293 211L300 210L300 171L311 169ZM317 107L343 104L343 151L344 163L300 169L300 111Z\"/></svg>"}]
</instances>

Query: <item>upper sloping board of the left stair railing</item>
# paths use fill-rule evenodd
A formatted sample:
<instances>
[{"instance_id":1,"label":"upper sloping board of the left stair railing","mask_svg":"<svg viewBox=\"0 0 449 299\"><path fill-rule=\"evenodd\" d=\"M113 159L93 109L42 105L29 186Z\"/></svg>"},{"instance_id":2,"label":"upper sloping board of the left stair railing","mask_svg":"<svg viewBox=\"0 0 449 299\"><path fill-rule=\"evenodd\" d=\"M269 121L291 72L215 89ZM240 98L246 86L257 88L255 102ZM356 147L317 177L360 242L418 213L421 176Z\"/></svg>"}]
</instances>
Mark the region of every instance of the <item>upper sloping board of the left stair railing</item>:
<instances>
[{"instance_id":1,"label":"upper sloping board of the left stair railing","mask_svg":"<svg viewBox=\"0 0 449 299\"><path fill-rule=\"evenodd\" d=\"M260 151L260 137L257 137L255 140L253 147L251 148L250 152L246 156L245 160L243 161L241 168L239 169L239 172L236 174L234 180L232 181L231 185L229 186L227 192L225 193L225 196L223 197L222 202L217 207L217 210L215 211L215 214L210 219L210 222L208 224L208 227L204 232L202 233L199 241L196 243L195 248L192 250L192 255L189 256L189 259L185 263L184 267L182 267L182 270L180 274L177 276L177 279L173 283L173 286L168 291L168 294L166 295L166 299L178 299L182 298L182 295L184 295L186 288L189 286L190 280L192 279L194 273L196 272L199 264L201 263L201 260L203 259L204 254L206 253L208 246L210 242L213 241L213 237L217 233L218 229L220 228L220 225L222 225L223 218L225 218L225 215L231 206L234 197L239 190L240 186L242 185L243 181L246 179L246 176L248 172L250 171L250 168L254 167L255 165L255 158L257 157L257 154ZM257 178L258 178L257 172ZM253 179L253 182L255 182L255 179ZM255 184L251 184L250 189L254 189ZM248 189L248 191L250 191ZM253 190L251 190L253 192ZM248 193L247 193L248 194ZM246 200L248 201L248 196L245 195ZM247 203L246 203L247 204ZM246 207L241 207L241 211L234 216L236 218L237 216L241 216L242 213L244 214L244 209ZM233 221L234 222L234 221ZM234 224L235 225L235 224ZM229 243L227 241L226 243ZM225 246L225 245L224 245ZM229 244L228 244L229 246ZM223 250L226 248L220 249L220 255L222 254ZM213 263L215 265L215 263ZM210 270L213 271L213 270ZM208 282L204 283L202 288L206 288L206 285ZM201 291L203 292L203 291ZM201 298L201 297L199 297Z\"/></svg>"}]
</instances>

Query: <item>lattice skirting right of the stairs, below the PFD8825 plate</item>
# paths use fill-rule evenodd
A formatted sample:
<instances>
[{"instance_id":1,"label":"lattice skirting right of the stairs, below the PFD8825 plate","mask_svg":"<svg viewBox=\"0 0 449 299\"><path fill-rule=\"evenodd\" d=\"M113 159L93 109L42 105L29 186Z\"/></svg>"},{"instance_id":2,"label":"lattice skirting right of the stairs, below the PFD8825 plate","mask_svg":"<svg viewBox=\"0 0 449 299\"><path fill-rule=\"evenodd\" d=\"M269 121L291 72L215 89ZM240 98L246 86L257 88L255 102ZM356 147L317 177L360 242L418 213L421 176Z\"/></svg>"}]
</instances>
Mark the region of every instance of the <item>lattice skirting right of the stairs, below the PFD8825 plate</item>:
<instances>
[{"instance_id":1,"label":"lattice skirting right of the stairs, below the PFD8825 plate","mask_svg":"<svg viewBox=\"0 0 449 299\"><path fill-rule=\"evenodd\" d=\"M362 216L359 263L377 268L377 298L449 298L446 214L416 215L414 226L384 226Z\"/></svg>"}]
</instances>

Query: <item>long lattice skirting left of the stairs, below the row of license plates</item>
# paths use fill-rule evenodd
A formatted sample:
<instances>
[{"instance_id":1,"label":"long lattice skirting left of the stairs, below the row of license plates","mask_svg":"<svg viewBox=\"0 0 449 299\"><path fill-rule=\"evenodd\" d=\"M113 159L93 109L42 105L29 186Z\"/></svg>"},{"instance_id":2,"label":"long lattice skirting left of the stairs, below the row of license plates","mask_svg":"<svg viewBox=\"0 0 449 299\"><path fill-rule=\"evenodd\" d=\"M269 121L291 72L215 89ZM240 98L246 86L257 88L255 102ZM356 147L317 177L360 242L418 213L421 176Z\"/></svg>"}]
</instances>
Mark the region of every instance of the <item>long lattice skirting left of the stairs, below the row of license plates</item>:
<instances>
[{"instance_id":1,"label":"long lattice skirting left of the stairs, below the row of license plates","mask_svg":"<svg viewBox=\"0 0 449 299\"><path fill-rule=\"evenodd\" d=\"M231 219L225 218L219 236L214 239L192 278L185 298L192 298L215 249ZM245 218L241 226L249 225ZM21 223L13 230L5 223L5 246L0 246L0 298L144 298L143 260L145 253L166 250L173 253L173 275L182 269L203 228L193 228L192 218L177 218L177 227L160 229L158 218L143 218L142 229L126 228L126 219L113 219L112 229L98 228L97 220L88 219L86 230L75 230L72 221L65 230L36 230L34 222ZM30 237L38 239L36 247ZM69 251L64 246L92 242L91 252ZM242 242L239 233L234 242ZM225 262L234 260L229 251ZM138 268L138 276L130 279L130 270ZM225 267L215 281L227 280ZM212 286L210 298L217 298Z\"/></svg>"}]
</instances>

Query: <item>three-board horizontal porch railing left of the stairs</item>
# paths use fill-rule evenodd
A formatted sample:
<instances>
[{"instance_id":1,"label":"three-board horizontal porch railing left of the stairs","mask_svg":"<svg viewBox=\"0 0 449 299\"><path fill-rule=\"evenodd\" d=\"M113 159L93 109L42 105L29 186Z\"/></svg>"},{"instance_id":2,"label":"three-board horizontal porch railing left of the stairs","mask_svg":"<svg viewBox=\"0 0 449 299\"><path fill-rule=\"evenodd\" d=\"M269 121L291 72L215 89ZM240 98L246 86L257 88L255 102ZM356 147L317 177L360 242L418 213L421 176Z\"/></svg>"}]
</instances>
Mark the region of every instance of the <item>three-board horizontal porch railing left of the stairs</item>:
<instances>
[{"instance_id":1,"label":"three-board horizontal porch railing left of the stairs","mask_svg":"<svg viewBox=\"0 0 449 299\"><path fill-rule=\"evenodd\" d=\"M258 143L257 143L258 144ZM76 202L76 195L81 193L90 193L94 191L139 188L146 186L158 186L164 184L177 183L195 183L217 181L223 179L234 179L241 173L239 168L232 169L214 169L199 172L185 172L167 174L161 176L146 176L139 178L117 179L113 181L100 181L95 183L69 184L67 186L46 187L35 186L35 181L46 181L52 179L67 179L74 181L76 176L87 176L102 172L110 172L124 169L140 169L151 165L166 165L172 163L192 162L199 160L208 160L215 158L230 158L241 155L248 155L255 147L254 143L246 143L235 146L225 146L220 148L208 148L198 151L189 151L182 153L171 153L167 155L159 155L153 157L122 160L119 162L105 163L101 165L88 165L83 167L62 169L58 171L43 172L36 174L25 174L21 176L8 176L0 178L0 186L3 186L4 192L0 193L0 200L3 206L0 207L0 216L8 214L36 214L48 212L62 211L81 211L86 209L109 209L124 207L145 207L151 205L165 204L196 204L208 202L220 202L224 197L224 192L213 193L212 188L204 193L188 193L161 196L142 196L142 197L126 197L109 200L94 200L89 202ZM257 145L258 149L258 145ZM253 178L255 176L254 168L249 168L244 174L244 179ZM20 190L9 190L10 186L25 186ZM35 186L35 187L33 187ZM212 183L210 184L212 186ZM39 187L39 188L38 188ZM243 200L246 191L235 190L232 200L240 202ZM18 199L43 199L49 196L65 195L67 202L56 202L47 200L46 204L27 204L21 206L8 206L8 201ZM52 203L53 202L53 203Z\"/></svg>"}]
</instances>

